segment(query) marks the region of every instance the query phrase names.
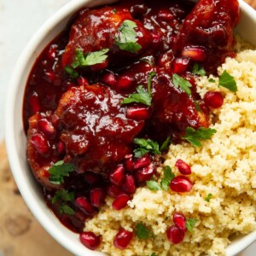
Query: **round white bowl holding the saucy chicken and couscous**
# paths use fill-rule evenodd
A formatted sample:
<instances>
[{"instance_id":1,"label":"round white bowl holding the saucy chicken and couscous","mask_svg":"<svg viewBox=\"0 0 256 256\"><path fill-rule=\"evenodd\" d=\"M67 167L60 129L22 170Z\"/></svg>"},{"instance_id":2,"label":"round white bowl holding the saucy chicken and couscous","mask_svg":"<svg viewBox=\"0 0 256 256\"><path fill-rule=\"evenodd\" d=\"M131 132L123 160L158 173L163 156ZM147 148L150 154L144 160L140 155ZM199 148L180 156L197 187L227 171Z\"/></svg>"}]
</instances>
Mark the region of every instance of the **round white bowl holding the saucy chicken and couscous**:
<instances>
[{"instance_id":1,"label":"round white bowl holding the saucy chicken and couscous","mask_svg":"<svg viewBox=\"0 0 256 256\"><path fill-rule=\"evenodd\" d=\"M56 241L60 242L74 255L96 256L102 253L92 252L79 242L79 236L67 230L55 215L49 211L44 202L44 197L38 189L38 184L32 177L26 161L26 135L22 123L23 95L26 80L38 55L55 36L66 26L67 20L80 8L93 7L99 4L113 3L114 0L73 0L55 13L40 30L34 35L26 49L20 55L15 66L15 71L9 84L9 94L6 108L6 146L9 155L9 163L20 189L20 193L26 201L34 216L44 229L49 232ZM242 38L256 45L256 11L247 3L240 0L241 22L236 31ZM247 236L241 236L233 241L227 248L227 255L235 255L256 241L256 231Z\"/></svg>"}]
</instances>

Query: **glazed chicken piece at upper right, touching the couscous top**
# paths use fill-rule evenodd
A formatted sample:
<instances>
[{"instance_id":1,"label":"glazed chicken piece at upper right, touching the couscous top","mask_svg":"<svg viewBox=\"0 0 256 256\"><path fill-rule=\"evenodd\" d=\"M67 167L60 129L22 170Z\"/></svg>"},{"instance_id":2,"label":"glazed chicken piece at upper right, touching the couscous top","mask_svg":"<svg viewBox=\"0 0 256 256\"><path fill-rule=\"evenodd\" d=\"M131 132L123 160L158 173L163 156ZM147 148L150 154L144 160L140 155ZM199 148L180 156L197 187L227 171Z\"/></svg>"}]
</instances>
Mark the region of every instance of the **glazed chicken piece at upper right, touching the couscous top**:
<instances>
[{"instance_id":1,"label":"glazed chicken piece at upper right, touching the couscous top","mask_svg":"<svg viewBox=\"0 0 256 256\"><path fill-rule=\"evenodd\" d=\"M233 28L240 19L237 0L201 0L183 22L178 33L177 55L202 61L208 72L215 73L227 56L233 52ZM192 50L188 48L192 47ZM188 49L185 53L184 49Z\"/></svg>"}]
</instances>

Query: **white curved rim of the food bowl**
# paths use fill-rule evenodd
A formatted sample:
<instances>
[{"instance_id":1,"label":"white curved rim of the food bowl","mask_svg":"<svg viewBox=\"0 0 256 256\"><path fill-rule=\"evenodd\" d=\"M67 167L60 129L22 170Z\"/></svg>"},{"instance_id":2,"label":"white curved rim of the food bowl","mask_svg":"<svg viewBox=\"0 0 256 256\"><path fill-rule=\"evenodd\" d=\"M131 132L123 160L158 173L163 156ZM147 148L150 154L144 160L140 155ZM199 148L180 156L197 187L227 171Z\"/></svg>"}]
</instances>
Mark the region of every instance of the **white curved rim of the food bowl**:
<instances>
[{"instance_id":1,"label":"white curved rim of the food bowl","mask_svg":"<svg viewBox=\"0 0 256 256\"><path fill-rule=\"evenodd\" d=\"M116 2L115 0L73 0L69 3L65 4L61 9L55 12L49 20L45 21L44 25L38 29L38 32L34 34L32 39L26 45L26 48L22 51L18 61L15 64L14 72L12 73L12 77L9 83L9 90L7 94L7 103L5 109L5 142L6 148L9 158L9 164L11 167L11 171L15 177L15 182L17 183L18 188L20 189L20 194L22 195L24 201L26 201L26 205L31 210L32 214L35 218L38 219L38 222L44 227L50 236L55 238L55 241L58 241L62 247L66 247L71 253L75 255L103 255L102 253L92 252L85 248L84 246L78 247L74 240L69 239L70 234L74 234L73 232L63 232L60 229L60 223L58 220L49 218L49 210L48 212L44 212L38 201L36 200L36 196L33 193L32 189L28 186L25 178L25 174L22 172L22 168L20 166L20 154L16 150L16 141L15 141L15 99L22 96L19 94L20 87L20 79L23 76L23 73L26 71L26 65L28 63L28 59L35 53L38 45L43 41L46 35L58 25L58 23L64 18L70 17L76 11L78 11L83 6L96 6L99 4L107 4ZM251 18L256 18L256 11L250 7L247 3L239 0L241 10L249 15ZM256 19L255 19L256 20ZM45 44L46 45L46 44ZM44 46L45 46L44 45ZM35 59L36 60L36 59ZM26 76L27 79L27 76ZM22 111L22 110L21 110ZM45 204L45 207L46 204ZM66 228L64 228L66 229ZM79 240L79 238L77 238ZM228 255L235 255L236 253L241 252L244 248L248 247L250 244L256 241L256 230L247 236L243 236L240 241L234 242L234 246L227 248ZM83 249L83 250L82 250Z\"/></svg>"}]
</instances>

